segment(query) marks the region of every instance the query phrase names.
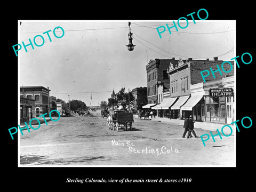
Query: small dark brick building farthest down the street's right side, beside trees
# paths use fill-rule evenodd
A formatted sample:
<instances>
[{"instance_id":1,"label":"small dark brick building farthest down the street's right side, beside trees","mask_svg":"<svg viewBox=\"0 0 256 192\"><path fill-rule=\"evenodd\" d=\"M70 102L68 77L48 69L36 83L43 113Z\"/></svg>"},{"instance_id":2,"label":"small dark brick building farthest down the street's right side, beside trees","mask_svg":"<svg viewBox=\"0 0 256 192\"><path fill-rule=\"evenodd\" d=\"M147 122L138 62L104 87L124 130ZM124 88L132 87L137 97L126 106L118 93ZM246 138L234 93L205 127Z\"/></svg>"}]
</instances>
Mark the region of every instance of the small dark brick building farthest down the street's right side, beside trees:
<instances>
[{"instance_id":1,"label":"small dark brick building farthest down the street's right side, beside trees","mask_svg":"<svg viewBox=\"0 0 256 192\"><path fill-rule=\"evenodd\" d=\"M142 106L147 105L147 87L136 87L132 90L134 97L133 107L135 110L142 109Z\"/></svg>"}]
</instances>

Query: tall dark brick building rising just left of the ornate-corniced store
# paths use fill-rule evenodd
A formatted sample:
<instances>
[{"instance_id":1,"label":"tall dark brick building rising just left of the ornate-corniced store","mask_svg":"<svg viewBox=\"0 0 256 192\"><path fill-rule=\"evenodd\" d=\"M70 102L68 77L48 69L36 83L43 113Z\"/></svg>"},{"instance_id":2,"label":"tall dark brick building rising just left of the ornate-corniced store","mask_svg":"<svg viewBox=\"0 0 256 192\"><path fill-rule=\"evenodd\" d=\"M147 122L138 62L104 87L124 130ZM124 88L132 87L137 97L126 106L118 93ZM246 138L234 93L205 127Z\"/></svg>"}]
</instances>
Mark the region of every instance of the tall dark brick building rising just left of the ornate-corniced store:
<instances>
[{"instance_id":1,"label":"tall dark brick building rising just left of the ornate-corniced store","mask_svg":"<svg viewBox=\"0 0 256 192\"><path fill-rule=\"evenodd\" d=\"M160 103L158 87L164 86L165 89L170 89L170 78L167 74L167 68L170 66L170 62L178 63L179 60L172 59L155 59L150 60L146 66L147 70L147 92L148 103ZM160 93L161 98L161 93Z\"/></svg>"}]
</instances>

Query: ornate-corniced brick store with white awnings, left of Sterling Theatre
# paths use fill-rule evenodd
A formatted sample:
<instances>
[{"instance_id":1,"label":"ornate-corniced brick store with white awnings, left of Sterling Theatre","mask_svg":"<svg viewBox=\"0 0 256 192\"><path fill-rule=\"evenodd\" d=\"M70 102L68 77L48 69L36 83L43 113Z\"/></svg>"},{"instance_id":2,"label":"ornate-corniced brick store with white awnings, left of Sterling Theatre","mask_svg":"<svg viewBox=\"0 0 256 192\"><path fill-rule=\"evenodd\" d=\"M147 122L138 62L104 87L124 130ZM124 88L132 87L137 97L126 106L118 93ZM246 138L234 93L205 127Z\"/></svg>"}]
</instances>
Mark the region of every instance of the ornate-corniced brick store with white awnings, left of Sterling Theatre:
<instances>
[{"instance_id":1,"label":"ornate-corniced brick store with white awnings, left of Sterling Theatre","mask_svg":"<svg viewBox=\"0 0 256 192\"><path fill-rule=\"evenodd\" d=\"M185 115L194 115L197 121L205 121L204 107L205 107L205 92L203 78L201 71L209 70L210 67L213 71L221 67L222 60L214 58L214 60L179 60L177 64L171 63L167 74L170 76L170 97L177 99L173 103L170 110L172 110L172 118L182 118ZM210 72L210 75L205 77L207 82L221 81L223 77L234 76L234 61L229 61L233 65L233 70L229 73L215 72L215 78ZM223 65L223 69L230 70L229 65ZM192 86L193 85L193 86Z\"/></svg>"}]
</instances>

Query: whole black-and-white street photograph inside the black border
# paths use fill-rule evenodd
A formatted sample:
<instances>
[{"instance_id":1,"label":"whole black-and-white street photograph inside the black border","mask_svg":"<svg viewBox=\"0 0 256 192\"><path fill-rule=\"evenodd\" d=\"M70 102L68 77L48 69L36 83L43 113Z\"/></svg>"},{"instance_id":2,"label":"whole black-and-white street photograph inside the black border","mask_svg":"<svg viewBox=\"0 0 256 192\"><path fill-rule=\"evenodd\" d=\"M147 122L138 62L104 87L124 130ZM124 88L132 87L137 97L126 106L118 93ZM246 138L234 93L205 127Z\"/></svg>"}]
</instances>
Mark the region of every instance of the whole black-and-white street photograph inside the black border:
<instances>
[{"instance_id":1,"label":"whole black-and-white street photograph inside the black border","mask_svg":"<svg viewBox=\"0 0 256 192\"><path fill-rule=\"evenodd\" d=\"M235 20L18 28L18 166L236 166Z\"/></svg>"}]
</instances>

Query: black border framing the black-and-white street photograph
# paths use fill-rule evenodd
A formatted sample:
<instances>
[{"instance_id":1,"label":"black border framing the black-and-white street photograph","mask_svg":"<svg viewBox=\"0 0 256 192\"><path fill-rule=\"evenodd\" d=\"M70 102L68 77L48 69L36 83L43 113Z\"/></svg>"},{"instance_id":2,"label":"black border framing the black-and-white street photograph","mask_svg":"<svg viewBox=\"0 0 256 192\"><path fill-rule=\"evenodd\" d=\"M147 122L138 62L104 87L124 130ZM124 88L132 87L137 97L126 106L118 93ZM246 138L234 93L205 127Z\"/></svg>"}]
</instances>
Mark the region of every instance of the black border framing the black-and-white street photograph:
<instances>
[{"instance_id":1,"label":"black border framing the black-and-white street photograph","mask_svg":"<svg viewBox=\"0 0 256 192\"><path fill-rule=\"evenodd\" d=\"M234 2L227 5L222 2L202 3L196 5L194 2L107 2L91 5L88 3L58 2L41 4L15 3L7 6L7 13L2 18L3 46L3 68L2 73L2 117L4 126L2 127L2 138L4 139L3 149L3 184L6 187L19 186L33 189L36 185L38 189L52 189L52 187L81 187L87 186L113 187L111 183L100 185L100 183L66 183L67 178L94 178L94 179L179 179L191 178L191 183L157 183L159 187L189 187L191 189L209 188L221 189L236 187L245 184L246 187L252 185L253 176L249 173L253 168L253 137L255 134L255 115L250 110L254 108L254 59L255 42L254 32L254 10L253 3ZM20 5L21 4L21 5ZM39 3L40 4L40 3ZM242 64L236 68L236 111L237 119L249 116L253 120L250 129L240 129L237 132L237 167L18 167L18 137L11 140L7 129L18 124L18 60L13 53L12 45L18 42L18 20L176 20L185 17L191 12L199 9L206 9L209 12L207 20L236 20L236 55L244 52L251 53L253 62L250 65ZM3 14L3 13L2 13ZM7 53L7 54L6 54ZM239 62L239 63L240 63ZM5 74L7 74L5 76ZM7 93L7 94L5 94ZM7 117L7 119L6 119ZM240 125L241 126L241 125ZM253 175L253 173L252 173ZM14 184L15 183L15 184ZM31 185L32 184L32 185ZM115 186L139 187L142 183L115 183ZM143 183L143 186L151 187L154 184ZM204 188L203 186L207 187ZM89 189L89 188L87 188ZM121 190L122 188L112 188ZM137 188L134 188L137 189ZM18 189L19 190L19 189Z\"/></svg>"}]
</instances>

